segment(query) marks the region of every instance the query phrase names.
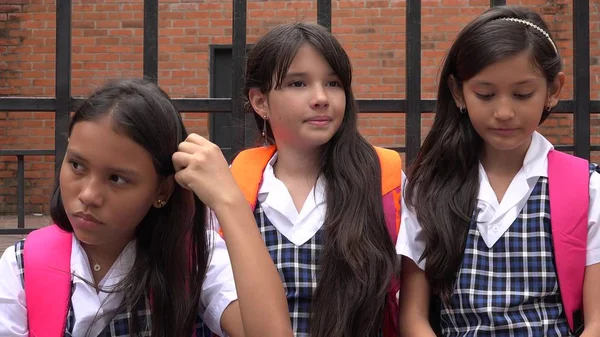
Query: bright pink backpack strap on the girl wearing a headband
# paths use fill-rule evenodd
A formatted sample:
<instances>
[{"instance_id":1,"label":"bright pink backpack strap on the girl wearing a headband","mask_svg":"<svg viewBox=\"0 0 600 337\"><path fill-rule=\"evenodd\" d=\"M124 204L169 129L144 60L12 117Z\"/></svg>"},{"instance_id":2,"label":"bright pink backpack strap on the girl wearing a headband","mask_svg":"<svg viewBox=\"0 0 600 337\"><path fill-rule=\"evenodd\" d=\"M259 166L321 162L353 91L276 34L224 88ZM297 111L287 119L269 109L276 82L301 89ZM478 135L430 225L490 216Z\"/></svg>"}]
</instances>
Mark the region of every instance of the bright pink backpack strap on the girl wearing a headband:
<instances>
[{"instance_id":1,"label":"bright pink backpack strap on the girl wearing a headband","mask_svg":"<svg viewBox=\"0 0 600 337\"><path fill-rule=\"evenodd\" d=\"M558 285L569 328L576 332L583 326L589 163L559 151L550 151L548 191Z\"/></svg>"}]
</instances>

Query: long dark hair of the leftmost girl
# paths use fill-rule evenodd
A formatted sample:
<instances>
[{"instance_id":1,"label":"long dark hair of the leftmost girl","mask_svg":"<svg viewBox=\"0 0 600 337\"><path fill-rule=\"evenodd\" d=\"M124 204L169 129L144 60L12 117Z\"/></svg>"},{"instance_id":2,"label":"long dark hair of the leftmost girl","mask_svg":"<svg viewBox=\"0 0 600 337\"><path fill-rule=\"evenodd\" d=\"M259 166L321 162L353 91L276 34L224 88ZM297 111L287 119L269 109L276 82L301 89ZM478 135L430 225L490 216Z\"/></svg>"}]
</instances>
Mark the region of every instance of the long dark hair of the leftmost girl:
<instances>
[{"instance_id":1,"label":"long dark hair of the leftmost girl","mask_svg":"<svg viewBox=\"0 0 600 337\"><path fill-rule=\"evenodd\" d=\"M160 177L174 174L171 156L187 132L164 91L144 80L109 82L77 109L69 134L77 123L107 115L116 130L148 151ZM167 204L160 209L152 207L136 228L133 268L116 287L124 293L119 310L137 308L151 296L152 336L189 336L193 331L208 257L205 213L191 191L175 184ZM60 182L52 196L51 215L60 228L73 231ZM130 334L137 336L143 328L137 314L131 318Z\"/></svg>"}]
</instances>

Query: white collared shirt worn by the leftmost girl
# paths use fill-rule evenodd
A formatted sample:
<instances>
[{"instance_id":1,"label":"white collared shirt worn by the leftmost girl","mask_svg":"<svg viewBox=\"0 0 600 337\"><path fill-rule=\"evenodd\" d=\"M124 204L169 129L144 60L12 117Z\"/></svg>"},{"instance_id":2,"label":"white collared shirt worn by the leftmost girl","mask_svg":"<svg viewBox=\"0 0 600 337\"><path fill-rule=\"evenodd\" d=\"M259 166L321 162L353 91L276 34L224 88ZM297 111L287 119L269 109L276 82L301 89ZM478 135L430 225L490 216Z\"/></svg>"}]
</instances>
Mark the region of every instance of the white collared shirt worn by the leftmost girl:
<instances>
[{"instance_id":1,"label":"white collared shirt worn by the leftmost girl","mask_svg":"<svg viewBox=\"0 0 600 337\"><path fill-rule=\"evenodd\" d=\"M206 278L202 284L199 313L204 323L213 332L223 336L221 315L231 302L237 300L237 292L225 242L216 232L207 231L207 233L213 236L209 240L212 242L212 249ZM76 317L73 336L84 336L88 329L90 329L90 336L97 336L110 323L110 319L123 300L123 294L102 291L96 293L92 286L81 280L83 278L94 283L87 255L79 241L74 236L73 238L71 272L79 276L73 278L75 288L71 299ZM118 284L133 266L135 255L135 242L132 241L123 249L107 274L98 283L99 287L110 290ZM15 246L12 245L0 258L0 336L26 337L28 335L25 291L19 276Z\"/></svg>"}]
</instances>

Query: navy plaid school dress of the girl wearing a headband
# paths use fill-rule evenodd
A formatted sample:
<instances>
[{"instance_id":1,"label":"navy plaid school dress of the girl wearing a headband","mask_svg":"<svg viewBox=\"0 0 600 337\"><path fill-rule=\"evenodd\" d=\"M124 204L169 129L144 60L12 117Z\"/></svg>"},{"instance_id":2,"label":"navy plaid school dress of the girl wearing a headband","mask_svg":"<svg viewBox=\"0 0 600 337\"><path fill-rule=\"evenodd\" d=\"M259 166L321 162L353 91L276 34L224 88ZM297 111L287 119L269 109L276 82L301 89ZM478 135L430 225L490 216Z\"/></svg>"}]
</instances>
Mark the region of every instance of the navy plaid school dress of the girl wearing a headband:
<instances>
[{"instance_id":1,"label":"navy plaid school dress of the girl wearing a headband","mask_svg":"<svg viewBox=\"0 0 600 337\"><path fill-rule=\"evenodd\" d=\"M590 165L590 174L597 167ZM553 258L548 179L540 177L517 219L492 248L471 221L445 337L570 337Z\"/></svg>"}]
</instances>

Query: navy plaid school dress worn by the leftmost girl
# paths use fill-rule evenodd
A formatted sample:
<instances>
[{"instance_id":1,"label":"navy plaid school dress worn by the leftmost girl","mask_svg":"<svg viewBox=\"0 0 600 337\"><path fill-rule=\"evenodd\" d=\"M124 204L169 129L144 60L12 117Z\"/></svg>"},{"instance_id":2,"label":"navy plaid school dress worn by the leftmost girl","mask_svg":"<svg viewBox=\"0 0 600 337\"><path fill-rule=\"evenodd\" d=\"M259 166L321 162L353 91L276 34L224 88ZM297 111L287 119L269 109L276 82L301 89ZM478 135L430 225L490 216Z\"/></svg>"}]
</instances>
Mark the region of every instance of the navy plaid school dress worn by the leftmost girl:
<instances>
[{"instance_id":1,"label":"navy plaid school dress worn by the leftmost girl","mask_svg":"<svg viewBox=\"0 0 600 337\"><path fill-rule=\"evenodd\" d=\"M21 240L15 244L15 254L17 258L17 264L19 266L19 276L21 277L21 284L25 285L25 261L23 260L23 247L25 240ZM71 282L71 297L75 290L74 284ZM129 337L129 324L132 315L137 315L138 326L140 333L138 336L147 337L152 336L150 332L150 326L152 324L151 312L150 312L150 301L146 297L143 302L140 302L135 310L133 308L125 308L113 317L110 323L102 330L98 337ZM75 337L73 336L73 328L75 326L75 314L73 312L73 303L69 299L69 310L67 313L67 321L65 327L64 337ZM196 319L196 337L213 337L213 333L204 324L200 315Z\"/></svg>"}]
</instances>

